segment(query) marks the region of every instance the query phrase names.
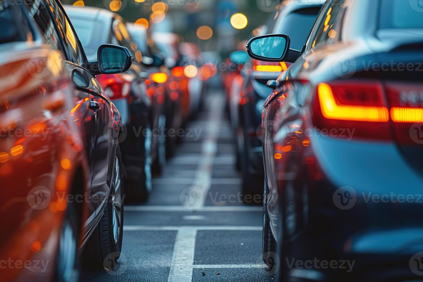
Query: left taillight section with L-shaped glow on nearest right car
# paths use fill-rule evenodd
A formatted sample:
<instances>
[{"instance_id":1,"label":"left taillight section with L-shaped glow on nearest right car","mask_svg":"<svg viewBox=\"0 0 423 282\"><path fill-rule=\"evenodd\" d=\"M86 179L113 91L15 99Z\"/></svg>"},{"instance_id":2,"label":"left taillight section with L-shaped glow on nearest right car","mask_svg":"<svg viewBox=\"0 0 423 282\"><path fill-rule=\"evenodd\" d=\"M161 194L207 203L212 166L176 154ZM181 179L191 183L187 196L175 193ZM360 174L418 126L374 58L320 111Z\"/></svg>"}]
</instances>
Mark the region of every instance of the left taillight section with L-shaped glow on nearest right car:
<instances>
[{"instance_id":1,"label":"left taillight section with L-shaped glow on nearest right car","mask_svg":"<svg viewBox=\"0 0 423 282\"><path fill-rule=\"evenodd\" d=\"M313 102L313 123L320 132L346 137L390 139L389 110L378 81L319 83ZM343 134L342 134L343 133Z\"/></svg>"}]
</instances>

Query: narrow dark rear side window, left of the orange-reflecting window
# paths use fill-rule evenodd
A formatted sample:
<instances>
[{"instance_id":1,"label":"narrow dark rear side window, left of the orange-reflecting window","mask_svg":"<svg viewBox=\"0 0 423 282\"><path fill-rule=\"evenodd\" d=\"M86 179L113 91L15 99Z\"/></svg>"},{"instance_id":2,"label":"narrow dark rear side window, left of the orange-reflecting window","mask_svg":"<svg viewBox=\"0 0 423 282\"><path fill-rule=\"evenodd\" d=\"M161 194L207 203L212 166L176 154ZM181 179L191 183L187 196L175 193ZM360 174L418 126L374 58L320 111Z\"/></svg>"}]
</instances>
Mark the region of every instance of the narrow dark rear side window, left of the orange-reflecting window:
<instances>
[{"instance_id":1,"label":"narrow dark rear side window, left of the orange-reflecting window","mask_svg":"<svg viewBox=\"0 0 423 282\"><path fill-rule=\"evenodd\" d=\"M28 9L28 16L32 17L42 33L44 41L51 45L53 49L63 52L60 38L55 32L55 23L48 11L48 6L44 1L25 0L25 7Z\"/></svg>"}]
</instances>

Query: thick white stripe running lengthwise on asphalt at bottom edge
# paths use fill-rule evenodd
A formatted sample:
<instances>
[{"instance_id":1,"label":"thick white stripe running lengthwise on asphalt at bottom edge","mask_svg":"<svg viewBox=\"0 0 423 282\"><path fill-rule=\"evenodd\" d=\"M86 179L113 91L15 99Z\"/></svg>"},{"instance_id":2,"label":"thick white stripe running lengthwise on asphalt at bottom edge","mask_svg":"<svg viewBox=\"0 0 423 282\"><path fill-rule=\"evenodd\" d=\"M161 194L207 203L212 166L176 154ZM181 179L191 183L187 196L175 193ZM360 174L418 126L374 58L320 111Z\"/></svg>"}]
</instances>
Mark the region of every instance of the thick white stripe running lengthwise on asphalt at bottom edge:
<instances>
[{"instance_id":1,"label":"thick white stripe running lengthwise on asphalt at bottom edge","mask_svg":"<svg viewBox=\"0 0 423 282\"><path fill-rule=\"evenodd\" d=\"M176 233L168 282L191 281L196 238L195 228L180 228Z\"/></svg>"}]
</instances>

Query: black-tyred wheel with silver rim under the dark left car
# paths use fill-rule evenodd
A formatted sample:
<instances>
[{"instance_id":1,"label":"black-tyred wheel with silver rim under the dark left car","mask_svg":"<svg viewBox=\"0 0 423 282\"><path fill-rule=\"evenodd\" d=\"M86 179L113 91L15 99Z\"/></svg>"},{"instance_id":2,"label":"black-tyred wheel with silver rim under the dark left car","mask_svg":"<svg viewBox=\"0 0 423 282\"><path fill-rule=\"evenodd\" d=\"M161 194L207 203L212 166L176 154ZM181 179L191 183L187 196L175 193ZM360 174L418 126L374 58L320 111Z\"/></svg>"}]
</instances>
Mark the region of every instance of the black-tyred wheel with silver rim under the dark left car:
<instances>
[{"instance_id":1,"label":"black-tyred wheel with silver rim under the dark left car","mask_svg":"<svg viewBox=\"0 0 423 282\"><path fill-rule=\"evenodd\" d=\"M115 261L119 258L124 227L122 176L121 153L118 147L113 163L110 195L103 216L84 248L85 265L89 268L104 268L104 260L110 258L111 254Z\"/></svg>"}]
</instances>

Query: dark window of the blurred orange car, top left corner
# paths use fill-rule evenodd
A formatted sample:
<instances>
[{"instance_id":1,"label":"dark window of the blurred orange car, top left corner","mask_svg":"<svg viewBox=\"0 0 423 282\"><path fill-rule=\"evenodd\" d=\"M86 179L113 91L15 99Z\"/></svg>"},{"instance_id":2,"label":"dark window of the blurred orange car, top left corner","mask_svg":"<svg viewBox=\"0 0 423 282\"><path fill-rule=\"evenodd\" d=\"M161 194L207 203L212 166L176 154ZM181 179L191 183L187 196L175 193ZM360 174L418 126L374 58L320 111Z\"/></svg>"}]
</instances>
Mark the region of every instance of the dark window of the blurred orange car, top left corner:
<instances>
[{"instance_id":1,"label":"dark window of the blurred orange car, top left corner","mask_svg":"<svg viewBox=\"0 0 423 282\"><path fill-rule=\"evenodd\" d=\"M0 44L16 41L33 41L33 33L27 17L18 5L0 3Z\"/></svg>"}]
</instances>

